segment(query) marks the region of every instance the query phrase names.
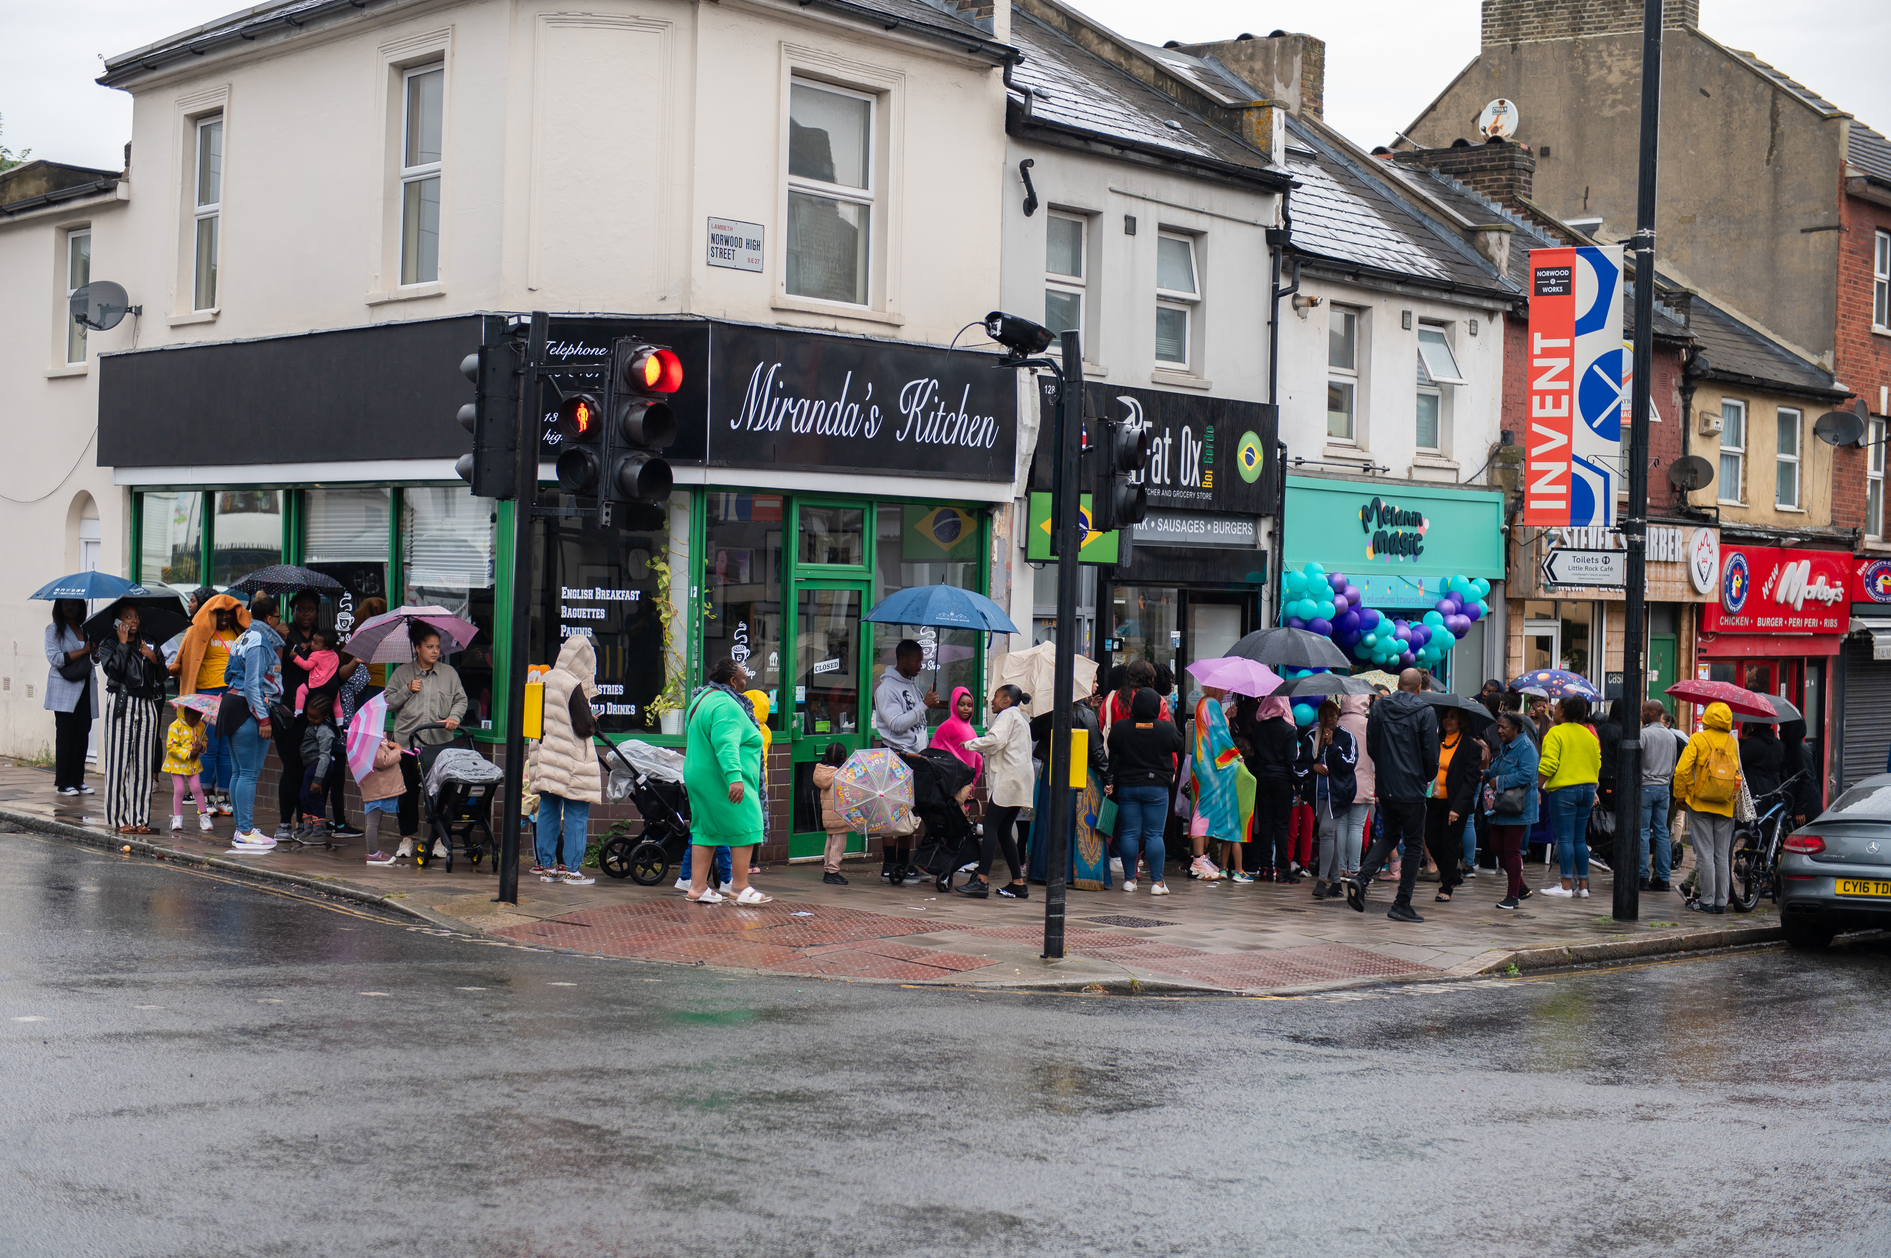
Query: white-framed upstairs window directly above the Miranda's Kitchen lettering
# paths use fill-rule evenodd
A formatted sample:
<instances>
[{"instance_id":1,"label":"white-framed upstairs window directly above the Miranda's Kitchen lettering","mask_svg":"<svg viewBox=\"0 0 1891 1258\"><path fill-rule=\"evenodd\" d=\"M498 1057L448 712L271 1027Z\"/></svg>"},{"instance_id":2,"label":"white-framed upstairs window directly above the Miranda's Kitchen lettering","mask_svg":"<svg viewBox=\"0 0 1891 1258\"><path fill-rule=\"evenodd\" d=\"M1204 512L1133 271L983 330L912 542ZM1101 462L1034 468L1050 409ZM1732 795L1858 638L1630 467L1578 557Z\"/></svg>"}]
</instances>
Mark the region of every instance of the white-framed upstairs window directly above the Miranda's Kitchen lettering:
<instances>
[{"instance_id":1,"label":"white-framed upstairs window directly above the Miranda's Kitchen lettering","mask_svg":"<svg viewBox=\"0 0 1891 1258\"><path fill-rule=\"evenodd\" d=\"M789 87L789 293L868 305L872 236L874 98L796 79Z\"/></svg>"}]
</instances>

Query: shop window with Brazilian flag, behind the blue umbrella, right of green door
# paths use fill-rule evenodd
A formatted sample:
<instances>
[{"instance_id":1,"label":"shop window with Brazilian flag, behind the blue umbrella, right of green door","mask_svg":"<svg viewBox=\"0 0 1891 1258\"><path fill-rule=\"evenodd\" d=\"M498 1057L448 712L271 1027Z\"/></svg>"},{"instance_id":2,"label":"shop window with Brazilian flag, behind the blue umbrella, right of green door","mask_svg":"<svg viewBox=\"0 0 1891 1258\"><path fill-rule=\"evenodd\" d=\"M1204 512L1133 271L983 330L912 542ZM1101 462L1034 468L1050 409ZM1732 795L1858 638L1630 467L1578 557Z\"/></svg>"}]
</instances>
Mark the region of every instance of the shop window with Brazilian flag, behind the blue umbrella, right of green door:
<instances>
[{"instance_id":1,"label":"shop window with Brazilian flag, behind the blue umbrella, right of green door","mask_svg":"<svg viewBox=\"0 0 1891 1258\"><path fill-rule=\"evenodd\" d=\"M934 503L877 503L874 507L874 603L915 585L978 590L981 566L980 516L972 511ZM951 698L953 687L966 687L972 690L974 719L978 719L985 708L978 673L985 634L876 622L874 679L893 664L894 647L902 638L911 638L925 653L921 685L938 690L942 700ZM946 708L928 709L927 723L936 726L947 715Z\"/></svg>"}]
</instances>

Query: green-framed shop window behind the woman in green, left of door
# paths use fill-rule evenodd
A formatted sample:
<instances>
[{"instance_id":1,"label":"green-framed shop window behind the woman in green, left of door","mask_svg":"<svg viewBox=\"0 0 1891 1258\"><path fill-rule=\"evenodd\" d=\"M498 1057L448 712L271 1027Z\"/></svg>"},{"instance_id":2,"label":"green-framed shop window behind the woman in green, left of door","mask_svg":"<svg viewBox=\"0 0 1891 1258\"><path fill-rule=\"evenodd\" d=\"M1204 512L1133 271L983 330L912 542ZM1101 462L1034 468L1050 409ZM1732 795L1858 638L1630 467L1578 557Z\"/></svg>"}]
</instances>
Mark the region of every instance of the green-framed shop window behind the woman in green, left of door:
<instances>
[{"instance_id":1,"label":"green-framed shop window behind the woman in green, left of door","mask_svg":"<svg viewBox=\"0 0 1891 1258\"><path fill-rule=\"evenodd\" d=\"M703 537L703 668L722 656L747 668L755 689L768 692L775 728L783 728L783 520L779 494L709 494Z\"/></svg>"}]
</instances>

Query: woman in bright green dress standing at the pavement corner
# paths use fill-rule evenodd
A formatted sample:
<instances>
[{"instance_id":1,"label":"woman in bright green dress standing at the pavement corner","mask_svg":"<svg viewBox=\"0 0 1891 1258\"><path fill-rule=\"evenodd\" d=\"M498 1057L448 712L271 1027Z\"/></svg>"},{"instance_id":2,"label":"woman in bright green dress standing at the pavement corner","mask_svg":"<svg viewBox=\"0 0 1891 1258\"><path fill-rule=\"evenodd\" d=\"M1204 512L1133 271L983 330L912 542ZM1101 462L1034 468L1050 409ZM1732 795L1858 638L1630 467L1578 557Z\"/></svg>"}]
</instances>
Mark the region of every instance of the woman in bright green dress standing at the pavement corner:
<instances>
[{"instance_id":1,"label":"woman in bright green dress standing at the pavement corner","mask_svg":"<svg viewBox=\"0 0 1891 1258\"><path fill-rule=\"evenodd\" d=\"M690 861L688 897L696 904L726 899L709 889L717 847L730 849L737 904L772 899L749 885L749 847L762 842L762 728L741 696L747 685L741 664L722 658L690 704L683 789L690 796L690 844L702 851Z\"/></svg>"}]
</instances>

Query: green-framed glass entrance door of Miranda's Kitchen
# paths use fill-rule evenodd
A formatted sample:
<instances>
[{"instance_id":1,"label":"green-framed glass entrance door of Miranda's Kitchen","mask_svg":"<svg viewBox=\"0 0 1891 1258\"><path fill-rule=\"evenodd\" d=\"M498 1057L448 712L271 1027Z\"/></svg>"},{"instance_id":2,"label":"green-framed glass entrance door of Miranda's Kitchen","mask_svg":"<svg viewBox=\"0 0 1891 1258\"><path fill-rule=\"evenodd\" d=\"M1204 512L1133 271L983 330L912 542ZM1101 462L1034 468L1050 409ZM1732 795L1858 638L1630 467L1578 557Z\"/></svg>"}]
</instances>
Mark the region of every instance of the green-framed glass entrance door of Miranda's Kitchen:
<instances>
[{"instance_id":1,"label":"green-framed glass entrance door of Miranda's Kitchen","mask_svg":"<svg viewBox=\"0 0 1891 1258\"><path fill-rule=\"evenodd\" d=\"M874 681L868 649L872 626L860 622L872 596L860 581L794 583L794 651L790 658L787 730L794 760L794 823L789 859L819 857L826 847L815 764L830 743L849 753L872 740L868 715ZM866 836L847 840L847 851L866 851Z\"/></svg>"}]
</instances>

